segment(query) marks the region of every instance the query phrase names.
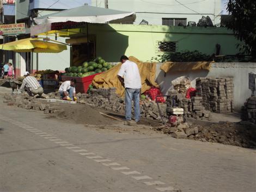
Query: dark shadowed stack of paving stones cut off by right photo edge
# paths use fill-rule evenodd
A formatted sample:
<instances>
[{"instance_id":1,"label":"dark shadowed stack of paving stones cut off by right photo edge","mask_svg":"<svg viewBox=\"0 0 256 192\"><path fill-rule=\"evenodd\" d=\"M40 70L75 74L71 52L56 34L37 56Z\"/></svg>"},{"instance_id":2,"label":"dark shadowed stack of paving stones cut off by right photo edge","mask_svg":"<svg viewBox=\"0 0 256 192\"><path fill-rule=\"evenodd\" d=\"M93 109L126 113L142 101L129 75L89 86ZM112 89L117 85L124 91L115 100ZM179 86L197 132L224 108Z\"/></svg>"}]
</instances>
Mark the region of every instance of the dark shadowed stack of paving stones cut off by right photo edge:
<instances>
[{"instance_id":1,"label":"dark shadowed stack of paving stones cut off by right photo edge","mask_svg":"<svg viewBox=\"0 0 256 192\"><path fill-rule=\"evenodd\" d=\"M256 124L256 96L248 98L245 106L242 107L241 119Z\"/></svg>"}]
</instances>

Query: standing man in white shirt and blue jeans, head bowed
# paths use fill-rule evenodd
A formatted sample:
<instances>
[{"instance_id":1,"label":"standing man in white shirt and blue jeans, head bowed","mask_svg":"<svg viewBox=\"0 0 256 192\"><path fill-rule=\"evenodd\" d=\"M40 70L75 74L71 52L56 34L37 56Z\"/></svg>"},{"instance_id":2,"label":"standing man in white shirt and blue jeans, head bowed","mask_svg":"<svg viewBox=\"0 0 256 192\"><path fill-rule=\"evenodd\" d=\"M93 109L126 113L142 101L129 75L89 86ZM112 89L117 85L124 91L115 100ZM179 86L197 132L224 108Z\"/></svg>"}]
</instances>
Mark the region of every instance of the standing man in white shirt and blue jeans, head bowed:
<instances>
[{"instance_id":1,"label":"standing man in white shirt and blue jeans, head bowed","mask_svg":"<svg viewBox=\"0 0 256 192\"><path fill-rule=\"evenodd\" d=\"M120 58L122 63L118 72L118 79L125 87L125 103L126 103L126 121L131 121L132 116L132 100L135 107L135 122L138 122L141 117L139 110L139 95L141 93L141 76L139 75L139 69L136 63L129 61L129 59L123 55Z\"/></svg>"}]
</instances>

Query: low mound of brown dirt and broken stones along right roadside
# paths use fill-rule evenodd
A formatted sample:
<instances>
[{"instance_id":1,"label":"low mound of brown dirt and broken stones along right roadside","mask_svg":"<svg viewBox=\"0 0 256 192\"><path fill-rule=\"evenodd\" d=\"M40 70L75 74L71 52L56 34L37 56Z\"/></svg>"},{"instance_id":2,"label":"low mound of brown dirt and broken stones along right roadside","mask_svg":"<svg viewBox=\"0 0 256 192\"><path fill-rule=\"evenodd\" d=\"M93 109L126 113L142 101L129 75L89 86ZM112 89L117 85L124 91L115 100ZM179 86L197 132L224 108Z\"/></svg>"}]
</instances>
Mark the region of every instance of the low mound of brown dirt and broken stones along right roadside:
<instances>
[{"instance_id":1,"label":"low mound of brown dirt and broken stones along right roadside","mask_svg":"<svg viewBox=\"0 0 256 192\"><path fill-rule=\"evenodd\" d=\"M156 129L175 138L209 141L247 148L256 147L256 127L253 123L245 121L212 123L210 126L184 123L177 127L166 125Z\"/></svg>"}]
</instances>

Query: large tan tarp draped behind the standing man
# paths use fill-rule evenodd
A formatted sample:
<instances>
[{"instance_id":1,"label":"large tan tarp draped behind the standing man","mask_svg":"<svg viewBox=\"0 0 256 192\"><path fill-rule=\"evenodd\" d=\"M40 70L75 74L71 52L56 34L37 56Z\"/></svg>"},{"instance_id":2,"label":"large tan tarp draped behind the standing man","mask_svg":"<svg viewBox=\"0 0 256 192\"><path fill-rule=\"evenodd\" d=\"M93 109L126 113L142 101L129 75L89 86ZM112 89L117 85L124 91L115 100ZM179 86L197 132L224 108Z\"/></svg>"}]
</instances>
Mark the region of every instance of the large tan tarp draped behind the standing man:
<instances>
[{"instance_id":1,"label":"large tan tarp draped behind the standing man","mask_svg":"<svg viewBox=\"0 0 256 192\"><path fill-rule=\"evenodd\" d=\"M142 93L149 90L151 86L159 87L155 82L156 76L156 63L143 63L135 57L129 57L130 61L133 61L138 65L139 73L141 75ZM121 63L114 66L112 69L97 75L93 79L93 86L96 88L117 88L117 94L124 96L124 87L121 85L117 73L121 67Z\"/></svg>"}]
</instances>

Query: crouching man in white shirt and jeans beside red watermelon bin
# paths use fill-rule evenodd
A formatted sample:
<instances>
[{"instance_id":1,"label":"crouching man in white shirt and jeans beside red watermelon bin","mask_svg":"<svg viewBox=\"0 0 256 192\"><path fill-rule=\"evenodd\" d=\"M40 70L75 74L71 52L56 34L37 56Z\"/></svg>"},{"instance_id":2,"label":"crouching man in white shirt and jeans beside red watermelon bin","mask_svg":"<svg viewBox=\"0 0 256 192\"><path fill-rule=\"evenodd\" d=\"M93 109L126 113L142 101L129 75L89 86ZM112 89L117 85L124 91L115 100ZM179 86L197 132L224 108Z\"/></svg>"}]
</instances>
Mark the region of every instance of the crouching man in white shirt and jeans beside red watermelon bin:
<instances>
[{"instance_id":1,"label":"crouching man in white shirt and jeans beside red watermelon bin","mask_svg":"<svg viewBox=\"0 0 256 192\"><path fill-rule=\"evenodd\" d=\"M59 93L63 100L77 101L75 85L76 79L66 80L60 85Z\"/></svg>"}]
</instances>

